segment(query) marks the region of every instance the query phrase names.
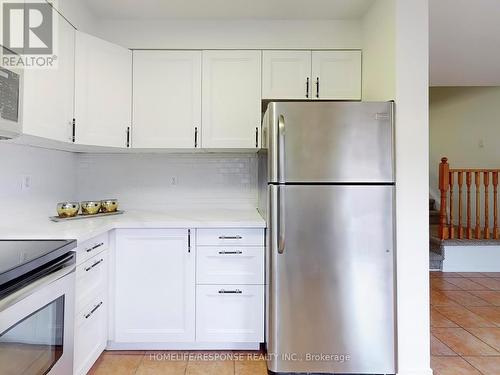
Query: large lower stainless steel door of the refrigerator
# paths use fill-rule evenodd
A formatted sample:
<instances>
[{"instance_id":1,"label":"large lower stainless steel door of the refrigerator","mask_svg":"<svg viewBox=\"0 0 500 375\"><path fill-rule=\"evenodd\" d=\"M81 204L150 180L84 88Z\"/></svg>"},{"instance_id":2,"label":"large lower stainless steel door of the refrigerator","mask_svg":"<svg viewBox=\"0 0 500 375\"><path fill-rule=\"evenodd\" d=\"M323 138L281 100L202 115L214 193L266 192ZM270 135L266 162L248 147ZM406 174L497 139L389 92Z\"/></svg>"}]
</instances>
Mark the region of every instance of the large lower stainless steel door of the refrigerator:
<instances>
[{"instance_id":1,"label":"large lower stainless steel door of the refrigerator","mask_svg":"<svg viewBox=\"0 0 500 375\"><path fill-rule=\"evenodd\" d=\"M396 373L394 187L269 189L269 370Z\"/></svg>"}]
</instances>

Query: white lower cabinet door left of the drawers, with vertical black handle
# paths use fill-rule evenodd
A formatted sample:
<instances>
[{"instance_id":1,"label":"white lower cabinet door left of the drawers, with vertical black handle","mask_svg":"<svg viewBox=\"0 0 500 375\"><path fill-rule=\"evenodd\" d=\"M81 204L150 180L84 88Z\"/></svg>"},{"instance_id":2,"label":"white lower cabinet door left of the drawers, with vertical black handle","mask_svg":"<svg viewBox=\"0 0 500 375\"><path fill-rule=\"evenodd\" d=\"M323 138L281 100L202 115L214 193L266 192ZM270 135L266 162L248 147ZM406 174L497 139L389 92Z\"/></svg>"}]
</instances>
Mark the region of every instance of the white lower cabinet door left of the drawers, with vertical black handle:
<instances>
[{"instance_id":1,"label":"white lower cabinet door left of the drawers, with vertical black handle","mask_svg":"<svg viewBox=\"0 0 500 375\"><path fill-rule=\"evenodd\" d=\"M115 341L192 342L195 254L185 229L118 230Z\"/></svg>"}]
</instances>

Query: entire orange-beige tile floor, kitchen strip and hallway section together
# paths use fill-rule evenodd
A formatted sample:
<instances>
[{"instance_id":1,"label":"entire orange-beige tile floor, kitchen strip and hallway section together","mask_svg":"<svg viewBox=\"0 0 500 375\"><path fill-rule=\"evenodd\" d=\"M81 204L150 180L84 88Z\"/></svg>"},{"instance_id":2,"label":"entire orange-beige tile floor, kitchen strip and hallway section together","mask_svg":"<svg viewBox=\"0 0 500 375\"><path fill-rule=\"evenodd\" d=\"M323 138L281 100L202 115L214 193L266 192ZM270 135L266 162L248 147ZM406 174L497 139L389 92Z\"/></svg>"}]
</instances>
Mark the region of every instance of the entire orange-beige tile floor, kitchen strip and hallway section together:
<instances>
[{"instance_id":1,"label":"entire orange-beige tile floor, kitchen strip and hallway section together","mask_svg":"<svg viewBox=\"0 0 500 375\"><path fill-rule=\"evenodd\" d=\"M500 273L431 272L430 284L434 374L500 375ZM200 354L206 356L197 358ZM238 356L212 358L217 354ZM252 354L258 357L258 352L105 352L90 374L266 375L266 363Z\"/></svg>"}]
</instances>

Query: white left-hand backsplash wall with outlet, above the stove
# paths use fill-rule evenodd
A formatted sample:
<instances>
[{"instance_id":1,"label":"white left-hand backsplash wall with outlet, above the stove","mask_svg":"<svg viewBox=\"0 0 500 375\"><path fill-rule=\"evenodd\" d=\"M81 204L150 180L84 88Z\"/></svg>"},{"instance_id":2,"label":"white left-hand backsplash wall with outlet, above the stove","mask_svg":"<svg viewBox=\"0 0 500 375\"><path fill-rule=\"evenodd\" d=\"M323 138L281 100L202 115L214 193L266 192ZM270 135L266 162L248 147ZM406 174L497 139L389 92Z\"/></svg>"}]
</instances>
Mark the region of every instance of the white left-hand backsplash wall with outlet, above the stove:
<instances>
[{"instance_id":1,"label":"white left-hand backsplash wall with outlet, above the stove","mask_svg":"<svg viewBox=\"0 0 500 375\"><path fill-rule=\"evenodd\" d=\"M46 219L56 203L76 199L76 155L0 142L0 225L12 217ZM21 190L23 176L31 188Z\"/></svg>"}]
</instances>

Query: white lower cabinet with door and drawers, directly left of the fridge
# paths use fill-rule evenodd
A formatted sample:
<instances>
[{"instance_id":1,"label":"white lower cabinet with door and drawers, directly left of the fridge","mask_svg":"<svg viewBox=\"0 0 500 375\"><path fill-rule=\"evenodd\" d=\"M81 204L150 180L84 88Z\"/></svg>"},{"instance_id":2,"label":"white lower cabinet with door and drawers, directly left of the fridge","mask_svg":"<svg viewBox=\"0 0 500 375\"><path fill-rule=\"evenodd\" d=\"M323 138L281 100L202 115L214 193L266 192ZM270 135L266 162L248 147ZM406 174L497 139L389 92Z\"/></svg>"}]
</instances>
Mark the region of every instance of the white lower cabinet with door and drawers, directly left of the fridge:
<instances>
[{"instance_id":1,"label":"white lower cabinet with door and drawers, directly left of the fridge","mask_svg":"<svg viewBox=\"0 0 500 375\"><path fill-rule=\"evenodd\" d=\"M228 349L264 341L262 229L115 233L110 348Z\"/></svg>"}]
</instances>

